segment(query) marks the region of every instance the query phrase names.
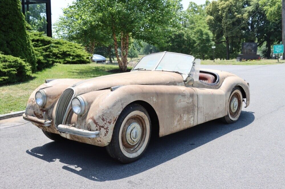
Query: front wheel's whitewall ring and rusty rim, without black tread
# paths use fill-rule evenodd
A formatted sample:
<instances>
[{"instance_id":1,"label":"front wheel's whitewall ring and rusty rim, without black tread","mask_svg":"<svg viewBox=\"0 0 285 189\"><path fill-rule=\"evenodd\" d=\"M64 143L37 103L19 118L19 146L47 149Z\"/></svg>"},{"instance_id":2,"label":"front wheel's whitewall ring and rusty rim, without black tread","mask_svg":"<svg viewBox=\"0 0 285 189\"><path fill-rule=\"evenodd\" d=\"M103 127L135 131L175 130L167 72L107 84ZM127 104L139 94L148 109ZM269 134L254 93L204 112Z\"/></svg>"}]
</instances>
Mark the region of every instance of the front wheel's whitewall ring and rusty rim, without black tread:
<instances>
[{"instance_id":1,"label":"front wheel's whitewall ring and rusty rim, without black tread","mask_svg":"<svg viewBox=\"0 0 285 189\"><path fill-rule=\"evenodd\" d=\"M148 117L141 111L131 112L123 121L119 132L119 144L129 158L139 156L146 148L150 134Z\"/></svg>"}]
</instances>

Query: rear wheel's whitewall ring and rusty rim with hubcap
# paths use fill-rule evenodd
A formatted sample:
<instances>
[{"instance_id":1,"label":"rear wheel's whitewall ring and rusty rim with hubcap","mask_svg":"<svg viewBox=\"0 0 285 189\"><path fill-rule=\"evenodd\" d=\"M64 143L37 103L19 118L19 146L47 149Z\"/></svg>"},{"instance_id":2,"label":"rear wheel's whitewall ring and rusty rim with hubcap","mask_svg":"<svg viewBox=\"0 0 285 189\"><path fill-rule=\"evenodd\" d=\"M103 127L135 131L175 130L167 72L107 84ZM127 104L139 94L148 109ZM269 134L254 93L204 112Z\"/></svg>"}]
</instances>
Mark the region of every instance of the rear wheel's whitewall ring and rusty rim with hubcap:
<instances>
[{"instance_id":1,"label":"rear wheel's whitewall ring and rusty rim with hubcap","mask_svg":"<svg viewBox=\"0 0 285 189\"><path fill-rule=\"evenodd\" d=\"M239 90L232 93L229 100L229 117L232 120L237 120L241 113L242 98Z\"/></svg>"}]
</instances>

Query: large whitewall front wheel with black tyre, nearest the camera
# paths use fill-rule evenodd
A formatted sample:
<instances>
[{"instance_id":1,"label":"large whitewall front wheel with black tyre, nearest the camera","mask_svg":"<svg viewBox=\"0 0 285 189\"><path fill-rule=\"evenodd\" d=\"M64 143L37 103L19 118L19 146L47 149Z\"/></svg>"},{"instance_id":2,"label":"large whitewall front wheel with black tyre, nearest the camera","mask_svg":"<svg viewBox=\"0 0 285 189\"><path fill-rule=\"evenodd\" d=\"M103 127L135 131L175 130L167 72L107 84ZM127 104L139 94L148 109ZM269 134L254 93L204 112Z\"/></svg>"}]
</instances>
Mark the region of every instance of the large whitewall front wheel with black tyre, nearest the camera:
<instances>
[{"instance_id":1,"label":"large whitewall front wheel with black tyre, nearest the camera","mask_svg":"<svg viewBox=\"0 0 285 189\"><path fill-rule=\"evenodd\" d=\"M151 123L146 109L130 104L116 121L108 154L121 163L131 163L141 158L150 140Z\"/></svg>"}]
</instances>

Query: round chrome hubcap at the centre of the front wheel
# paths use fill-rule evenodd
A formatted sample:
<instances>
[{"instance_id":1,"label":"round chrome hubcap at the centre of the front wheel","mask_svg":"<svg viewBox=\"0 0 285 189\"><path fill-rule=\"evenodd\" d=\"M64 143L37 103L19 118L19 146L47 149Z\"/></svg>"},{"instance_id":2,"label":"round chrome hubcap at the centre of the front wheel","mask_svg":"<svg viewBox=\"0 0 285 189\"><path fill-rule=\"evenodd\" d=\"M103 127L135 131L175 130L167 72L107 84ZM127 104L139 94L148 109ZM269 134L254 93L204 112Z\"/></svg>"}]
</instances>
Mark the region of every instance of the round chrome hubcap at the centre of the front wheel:
<instances>
[{"instance_id":1,"label":"round chrome hubcap at the centre of the front wheel","mask_svg":"<svg viewBox=\"0 0 285 189\"><path fill-rule=\"evenodd\" d=\"M126 139L130 145L135 145L141 138L141 126L138 123L131 123L126 131Z\"/></svg>"}]
</instances>

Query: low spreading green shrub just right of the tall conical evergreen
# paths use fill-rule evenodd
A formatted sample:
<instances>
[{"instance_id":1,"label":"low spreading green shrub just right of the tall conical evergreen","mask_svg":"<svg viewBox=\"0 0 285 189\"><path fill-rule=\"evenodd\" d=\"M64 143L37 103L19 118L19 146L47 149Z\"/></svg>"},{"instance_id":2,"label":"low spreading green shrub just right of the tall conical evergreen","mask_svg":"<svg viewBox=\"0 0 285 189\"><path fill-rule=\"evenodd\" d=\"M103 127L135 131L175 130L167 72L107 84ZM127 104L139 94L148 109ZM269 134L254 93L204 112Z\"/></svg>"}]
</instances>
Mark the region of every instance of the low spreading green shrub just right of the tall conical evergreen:
<instances>
[{"instance_id":1,"label":"low spreading green shrub just right of the tall conical evergreen","mask_svg":"<svg viewBox=\"0 0 285 189\"><path fill-rule=\"evenodd\" d=\"M83 46L54 39L43 35L42 32L30 32L30 39L35 50L38 70L60 64L87 64L90 63L91 54Z\"/></svg>"}]
</instances>

